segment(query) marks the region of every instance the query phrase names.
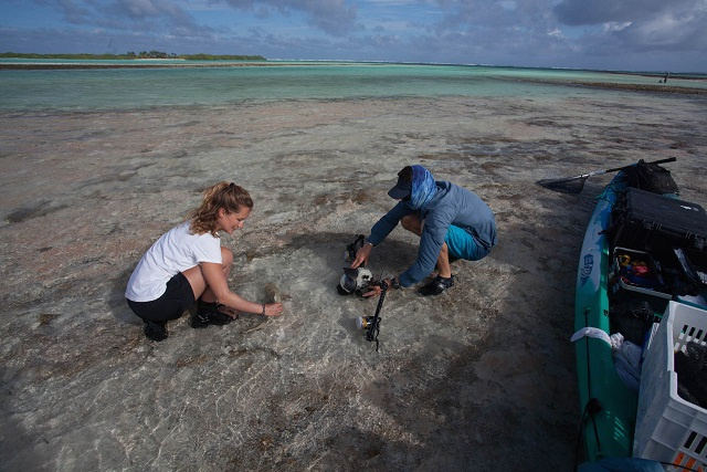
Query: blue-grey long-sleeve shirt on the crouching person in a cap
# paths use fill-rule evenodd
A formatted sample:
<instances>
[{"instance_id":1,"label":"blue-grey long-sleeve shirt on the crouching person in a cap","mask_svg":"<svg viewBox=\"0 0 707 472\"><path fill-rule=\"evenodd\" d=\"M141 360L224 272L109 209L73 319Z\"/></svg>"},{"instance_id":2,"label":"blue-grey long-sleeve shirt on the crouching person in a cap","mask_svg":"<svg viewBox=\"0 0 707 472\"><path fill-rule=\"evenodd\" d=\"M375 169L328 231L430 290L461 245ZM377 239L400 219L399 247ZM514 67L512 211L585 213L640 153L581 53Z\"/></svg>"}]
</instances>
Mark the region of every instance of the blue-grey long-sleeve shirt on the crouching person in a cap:
<instances>
[{"instance_id":1,"label":"blue-grey long-sleeve shirt on the crouching person in a cap","mask_svg":"<svg viewBox=\"0 0 707 472\"><path fill-rule=\"evenodd\" d=\"M424 228L418 260L400 275L402 286L413 285L432 273L450 224L464 229L486 250L497 243L494 212L476 193L447 181L435 183L436 193L422 212L401 201L373 224L367 239L378 245L403 217L414 212L420 214Z\"/></svg>"}]
</instances>

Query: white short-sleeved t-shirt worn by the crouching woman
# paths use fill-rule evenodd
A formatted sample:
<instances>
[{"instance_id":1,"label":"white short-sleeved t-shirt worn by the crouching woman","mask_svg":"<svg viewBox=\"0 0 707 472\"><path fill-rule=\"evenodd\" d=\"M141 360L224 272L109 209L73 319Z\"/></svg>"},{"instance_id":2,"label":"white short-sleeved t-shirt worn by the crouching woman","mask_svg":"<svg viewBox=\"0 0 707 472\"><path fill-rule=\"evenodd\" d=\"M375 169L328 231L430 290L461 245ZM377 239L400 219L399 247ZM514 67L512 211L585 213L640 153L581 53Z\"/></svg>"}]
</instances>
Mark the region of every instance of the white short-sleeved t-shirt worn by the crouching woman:
<instances>
[{"instance_id":1,"label":"white short-sleeved t-shirt worn by the crouching woman","mask_svg":"<svg viewBox=\"0 0 707 472\"><path fill-rule=\"evenodd\" d=\"M151 302L167 290L167 282L179 272L201 262L220 264L221 242L211 233L192 234L186 221L158 239L147 250L130 275L125 296L133 302Z\"/></svg>"}]
</instances>

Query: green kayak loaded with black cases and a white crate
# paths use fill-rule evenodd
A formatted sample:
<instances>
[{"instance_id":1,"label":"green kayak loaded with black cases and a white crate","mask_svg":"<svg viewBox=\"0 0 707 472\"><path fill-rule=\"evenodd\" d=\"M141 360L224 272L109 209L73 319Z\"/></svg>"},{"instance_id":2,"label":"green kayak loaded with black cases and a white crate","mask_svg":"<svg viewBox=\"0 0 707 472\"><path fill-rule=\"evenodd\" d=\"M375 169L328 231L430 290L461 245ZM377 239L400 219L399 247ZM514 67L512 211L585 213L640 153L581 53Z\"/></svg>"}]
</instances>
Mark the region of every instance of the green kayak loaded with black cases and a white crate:
<instances>
[{"instance_id":1,"label":"green kayak loaded with black cases and a white crate","mask_svg":"<svg viewBox=\"0 0 707 472\"><path fill-rule=\"evenodd\" d=\"M598 197L580 253L572 336L580 444L590 463L635 455L673 463L685 459L680 463L703 470L699 464L707 464L707 410L685 402L674 384L668 391L659 379L671 375L667 356L672 363L674 347L665 329L673 318L680 319L677 331L672 332L673 342L693 329L695 340L707 345L707 213L676 193L658 195L630 186L629 171L620 171ZM690 258L695 264L685 262ZM640 303L643 312L635 308ZM639 321L637 334L625 324L625 329L618 328L625 323L629 306L632 315L646 314ZM668 312L669 317L661 322ZM692 319L690 325L683 319ZM653 348L652 334L655 336L658 322L662 337ZM615 361L616 353L612 352L612 345L623 348L625 344L619 343L624 336L634 339L625 344L637 353L633 377L637 380L633 384L625 370L618 369L621 361ZM663 353L662 360L646 370L643 361L646 356L656 359L656 353ZM640 432L635 432L636 417Z\"/></svg>"}]
</instances>

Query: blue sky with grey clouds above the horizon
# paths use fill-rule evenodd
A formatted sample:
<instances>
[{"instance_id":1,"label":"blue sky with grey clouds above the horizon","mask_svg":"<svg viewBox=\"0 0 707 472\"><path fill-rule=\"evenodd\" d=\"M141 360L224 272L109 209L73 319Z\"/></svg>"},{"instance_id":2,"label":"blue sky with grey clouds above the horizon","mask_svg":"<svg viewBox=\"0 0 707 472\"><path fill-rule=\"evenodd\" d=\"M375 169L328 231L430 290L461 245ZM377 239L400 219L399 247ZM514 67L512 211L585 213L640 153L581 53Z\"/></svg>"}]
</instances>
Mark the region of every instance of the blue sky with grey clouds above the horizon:
<instances>
[{"instance_id":1,"label":"blue sky with grey clouds above the horizon","mask_svg":"<svg viewBox=\"0 0 707 472\"><path fill-rule=\"evenodd\" d=\"M707 72L707 0L0 0L0 52Z\"/></svg>"}]
</instances>

